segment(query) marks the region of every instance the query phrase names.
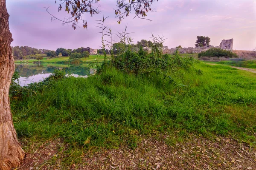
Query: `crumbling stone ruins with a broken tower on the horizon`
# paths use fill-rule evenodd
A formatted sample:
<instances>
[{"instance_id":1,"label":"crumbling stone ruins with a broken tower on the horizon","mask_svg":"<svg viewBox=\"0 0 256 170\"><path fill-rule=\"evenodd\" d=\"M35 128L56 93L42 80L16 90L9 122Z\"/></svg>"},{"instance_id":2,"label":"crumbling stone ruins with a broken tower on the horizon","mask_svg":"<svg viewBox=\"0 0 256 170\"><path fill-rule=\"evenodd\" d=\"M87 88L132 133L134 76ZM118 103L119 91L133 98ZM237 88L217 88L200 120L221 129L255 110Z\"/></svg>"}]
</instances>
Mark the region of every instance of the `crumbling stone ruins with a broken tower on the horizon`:
<instances>
[{"instance_id":1,"label":"crumbling stone ruins with a broken tower on the horizon","mask_svg":"<svg viewBox=\"0 0 256 170\"><path fill-rule=\"evenodd\" d=\"M221 48L228 51L233 51L233 38L230 40L222 40L221 44L219 46L204 46L204 47L189 47L189 48L180 48L179 52L180 54L194 54L194 53L200 53L202 51L207 51L210 48ZM174 53L176 48L168 48L167 46L162 48L163 54L172 54ZM147 48L148 51L151 49Z\"/></svg>"}]
</instances>

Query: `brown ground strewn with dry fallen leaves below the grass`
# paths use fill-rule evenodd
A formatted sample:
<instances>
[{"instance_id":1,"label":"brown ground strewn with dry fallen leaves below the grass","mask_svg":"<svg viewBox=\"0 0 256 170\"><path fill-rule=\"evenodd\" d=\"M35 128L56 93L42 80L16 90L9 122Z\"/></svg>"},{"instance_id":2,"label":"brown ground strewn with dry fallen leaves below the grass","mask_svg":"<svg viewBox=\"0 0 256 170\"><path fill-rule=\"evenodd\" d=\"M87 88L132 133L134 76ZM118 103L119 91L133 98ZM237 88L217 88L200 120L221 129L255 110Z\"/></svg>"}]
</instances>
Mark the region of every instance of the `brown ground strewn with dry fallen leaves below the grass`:
<instances>
[{"instance_id":1,"label":"brown ground strewn with dry fallen leaves below the grass","mask_svg":"<svg viewBox=\"0 0 256 170\"><path fill-rule=\"evenodd\" d=\"M63 165L63 152L68 148L60 139L49 141L28 153L19 170L256 170L256 149L227 137L207 139L190 136L169 145L169 136L141 138L130 147L102 149L82 156L82 163Z\"/></svg>"}]
</instances>

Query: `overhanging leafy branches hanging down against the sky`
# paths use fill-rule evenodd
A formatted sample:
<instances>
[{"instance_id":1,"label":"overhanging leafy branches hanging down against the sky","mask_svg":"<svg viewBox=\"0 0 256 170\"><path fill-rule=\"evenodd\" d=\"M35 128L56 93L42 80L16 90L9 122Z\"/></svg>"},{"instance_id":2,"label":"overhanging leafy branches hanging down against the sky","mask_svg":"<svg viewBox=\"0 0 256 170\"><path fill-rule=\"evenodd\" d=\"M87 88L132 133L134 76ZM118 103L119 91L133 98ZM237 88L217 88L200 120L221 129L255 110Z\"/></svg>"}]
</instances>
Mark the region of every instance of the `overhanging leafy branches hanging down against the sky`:
<instances>
[{"instance_id":1,"label":"overhanging leafy branches hanging down against the sky","mask_svg":"<svg viewBox=\"0 0 256 170\"><path fill-rule=\"evenodd\" d=\"M100 11L98 10L97 3L100 0L59 0L58 11L63 10L70 14L69 17L65 17L64 20L58 19L57 17L53 16L46 8L47 12L52 16L52 20L60 20L63 24L71 23L72 27L76 29L77 24L79 21L82 21L83 28L87 28L87 21L82 18L82 14L89 13L92 17L94 14L99 14ZM116 9L115 15L119 18L117 21L121 23L124 17L128 17L131 11L135 11L134 17L145 18L147 16L148 11L153 11L151 5L158 0L116 0ZM55 0L55 3L57 1Z\"/></svg>"}]
</instances>

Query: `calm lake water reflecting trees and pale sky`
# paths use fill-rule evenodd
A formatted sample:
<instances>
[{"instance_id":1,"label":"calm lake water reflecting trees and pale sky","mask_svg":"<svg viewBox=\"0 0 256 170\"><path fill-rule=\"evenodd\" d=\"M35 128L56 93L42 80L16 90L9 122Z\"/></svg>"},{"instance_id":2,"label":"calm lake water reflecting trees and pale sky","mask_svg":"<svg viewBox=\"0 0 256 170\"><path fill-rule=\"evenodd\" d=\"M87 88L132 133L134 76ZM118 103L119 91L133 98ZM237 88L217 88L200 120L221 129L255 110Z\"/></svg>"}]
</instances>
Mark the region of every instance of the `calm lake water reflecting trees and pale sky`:
<instances>
[{"instance_id":1,"label":"calm lake water reflecting trees and pale sky","mask_svg":"<svg viewBox=\"0 0 256 170\"><path fill-rule=\"evenodd\" d=\"M49 77L55 69L64 69L67 75L74 77L87 77L94 71L87 67L87 64L83 65L63 65L63 64L33 64L22 63L15 64L15 70L19 73L20 85L28 85L32 82L39 82L46 77Z\"/></svg>"}]
</instances>

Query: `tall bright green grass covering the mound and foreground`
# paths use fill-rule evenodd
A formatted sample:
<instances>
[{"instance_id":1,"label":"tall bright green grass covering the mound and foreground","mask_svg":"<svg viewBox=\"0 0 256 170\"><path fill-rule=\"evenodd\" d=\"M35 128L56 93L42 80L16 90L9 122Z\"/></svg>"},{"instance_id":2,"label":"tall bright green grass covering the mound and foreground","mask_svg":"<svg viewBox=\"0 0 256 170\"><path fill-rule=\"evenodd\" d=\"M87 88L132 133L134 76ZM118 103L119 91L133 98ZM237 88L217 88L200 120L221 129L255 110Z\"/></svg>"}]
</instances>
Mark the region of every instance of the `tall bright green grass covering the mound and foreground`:
<instances>
[{"instance_id":1,"label":"tall bright green grass covering the mound and foreground","mask_svg":"<svg viewBox=\"0 0 256 170\"><path fill-rule=\"evenodd\" d=\"M107 68L61 79L40 94L11 99L17 135L61 137L78 147L134 147L138 135L174 130L255 142L256 79L221 65L194 66L203 74L180 68L166 77L136 76Z\"/></svg>"}]
</instances>

